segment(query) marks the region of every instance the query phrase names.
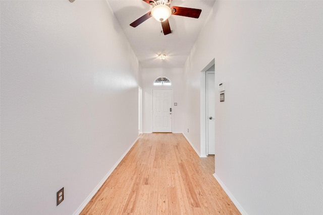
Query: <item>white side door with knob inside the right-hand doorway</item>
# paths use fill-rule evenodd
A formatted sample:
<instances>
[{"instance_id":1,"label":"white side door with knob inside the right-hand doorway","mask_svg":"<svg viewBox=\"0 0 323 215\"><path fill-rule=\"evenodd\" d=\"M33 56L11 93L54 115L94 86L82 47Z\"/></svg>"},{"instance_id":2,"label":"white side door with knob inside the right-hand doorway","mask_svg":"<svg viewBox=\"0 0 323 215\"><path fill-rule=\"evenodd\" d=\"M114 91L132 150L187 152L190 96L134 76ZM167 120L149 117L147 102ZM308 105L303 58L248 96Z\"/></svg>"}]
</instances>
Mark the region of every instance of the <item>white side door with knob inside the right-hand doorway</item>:
<instances>
[{"instance_id":1,"label":"white side door with knob inside the right-hand doorway","mask_svg":"<svg viewBox=\"0 0 323 215\"><path fill-rule=\"evenodd\" d=\"M207 136L206 136L206 148L208 155L214 155L216 151L215 144L215 86L214 86L214 73L206 72L206 116L207 116Z\"/></svg>"}]
</instances>

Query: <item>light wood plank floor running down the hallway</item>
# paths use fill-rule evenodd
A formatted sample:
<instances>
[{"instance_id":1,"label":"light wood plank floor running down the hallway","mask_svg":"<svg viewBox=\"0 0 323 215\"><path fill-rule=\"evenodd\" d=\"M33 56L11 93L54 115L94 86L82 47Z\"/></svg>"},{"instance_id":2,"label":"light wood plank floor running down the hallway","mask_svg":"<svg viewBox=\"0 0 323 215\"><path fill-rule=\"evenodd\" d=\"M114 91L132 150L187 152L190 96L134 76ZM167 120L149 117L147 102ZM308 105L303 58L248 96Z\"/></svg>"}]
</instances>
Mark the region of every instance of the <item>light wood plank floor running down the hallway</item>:
<instances>
[{"instance_id":1,"label":"light wood plank floor running down the hallway","mask_svg":"<svg viewBox=\"0 0 323 215\"><path fill-rule=\"evenodd\" d=\"M141 134L80 214L240 214L183 134Z\"/></svg>"}]
</instances>

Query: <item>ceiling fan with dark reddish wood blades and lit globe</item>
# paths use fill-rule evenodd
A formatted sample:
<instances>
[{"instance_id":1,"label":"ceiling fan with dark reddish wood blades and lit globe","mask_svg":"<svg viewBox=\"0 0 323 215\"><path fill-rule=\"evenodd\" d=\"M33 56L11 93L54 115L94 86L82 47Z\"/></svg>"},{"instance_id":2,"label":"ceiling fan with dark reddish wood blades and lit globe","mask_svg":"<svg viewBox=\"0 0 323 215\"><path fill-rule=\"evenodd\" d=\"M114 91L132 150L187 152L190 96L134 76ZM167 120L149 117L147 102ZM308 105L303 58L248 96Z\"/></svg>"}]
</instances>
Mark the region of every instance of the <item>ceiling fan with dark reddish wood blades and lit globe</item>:
<instances>
[{"instance_id":1,"label":"ceiling fan with dark reddish wood blades and lit globe","mask_svg":"<svg viewBox=\"0 0 323 215\"><path fill-rule=\"evenodd\" d=\"M158 22L161 23L161 27L163 27L164 35L172 33L170 23L168 18L171 15L183 16L183 17L191 17L191 18L199 18L202 10L195 8L183 8L173 6L171 7L172 0L142 0L145 3L152 6L152 10L134 21L130 24L132 27L137 27L150 17L155 18Z\"/></svg>"}]
</instances>

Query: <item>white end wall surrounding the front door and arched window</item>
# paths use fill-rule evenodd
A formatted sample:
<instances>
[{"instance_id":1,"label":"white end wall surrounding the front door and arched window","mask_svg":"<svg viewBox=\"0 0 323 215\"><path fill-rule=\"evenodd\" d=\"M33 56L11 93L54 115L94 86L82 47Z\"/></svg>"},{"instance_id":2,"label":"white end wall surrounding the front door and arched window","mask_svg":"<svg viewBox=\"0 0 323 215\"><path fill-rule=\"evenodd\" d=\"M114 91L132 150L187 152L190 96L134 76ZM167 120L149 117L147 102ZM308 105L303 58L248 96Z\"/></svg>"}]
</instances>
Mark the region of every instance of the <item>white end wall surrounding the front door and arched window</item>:
<instances>
[{"instance_id":1,"label":"white end wall surrounding the front door and arched window","mask_svg":"<svg viewBox=\"0 0 323 215\"><path fill-rule=\"evenodd\" d=\"M165 76L172 86L154 86L157 77ZM183 69L182 68L142 68L143 91L143 132L152 132L152 89L173 89L173 132L182 133L183 122ZM177 102L177 106L174 103Z\"/></svg>"}]
</instances>

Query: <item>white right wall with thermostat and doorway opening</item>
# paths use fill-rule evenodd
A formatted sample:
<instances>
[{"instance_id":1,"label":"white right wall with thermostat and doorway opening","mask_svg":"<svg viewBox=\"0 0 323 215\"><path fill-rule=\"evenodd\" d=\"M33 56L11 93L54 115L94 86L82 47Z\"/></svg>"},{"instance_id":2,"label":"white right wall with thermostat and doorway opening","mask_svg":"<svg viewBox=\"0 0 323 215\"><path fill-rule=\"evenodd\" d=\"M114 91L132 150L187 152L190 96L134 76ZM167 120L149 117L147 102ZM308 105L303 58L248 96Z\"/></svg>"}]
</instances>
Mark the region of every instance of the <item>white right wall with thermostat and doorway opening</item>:
<instances>
[{"instance_id":1,"label":"white right wall with thermostat and doorway opening","mask_svg":"<svg viewBox=\"0 0 323 215\"><path fill-rule=\"evenodd\" d=\"M185 68L200 147L200 71L215 57L216 177L247 214L322 214L323 2L216 1ZM186 131L186 130L184 130Z\"/></svg>"}]
</instances>

